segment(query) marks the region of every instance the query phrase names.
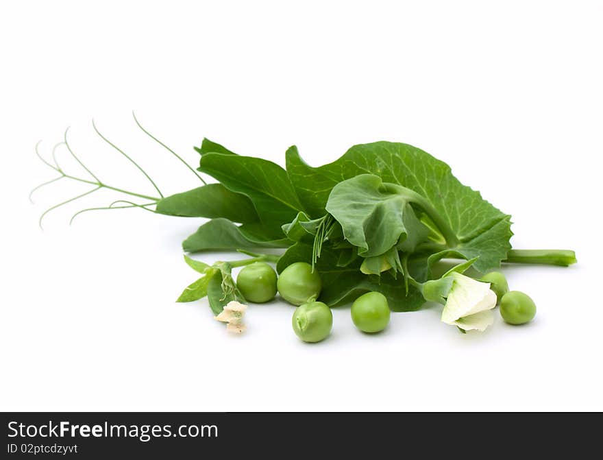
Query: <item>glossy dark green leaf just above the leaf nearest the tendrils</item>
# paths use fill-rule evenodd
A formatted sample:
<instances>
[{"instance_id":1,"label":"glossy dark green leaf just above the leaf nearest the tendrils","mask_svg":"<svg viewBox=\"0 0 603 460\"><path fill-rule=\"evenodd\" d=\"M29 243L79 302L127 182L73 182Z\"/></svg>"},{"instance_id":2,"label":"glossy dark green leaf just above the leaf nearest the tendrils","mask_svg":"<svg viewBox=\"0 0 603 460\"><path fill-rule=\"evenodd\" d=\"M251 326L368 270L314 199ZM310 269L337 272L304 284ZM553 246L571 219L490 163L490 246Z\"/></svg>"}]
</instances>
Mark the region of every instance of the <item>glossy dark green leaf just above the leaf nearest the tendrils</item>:
<instances>
[{"instance_id":1,"label":"glossy dark green leaf just above the leaf nearest the tendrils","mask_svg":"<svg viewBox=\"0 0 603 460\"><path fill-rule=\"evenodd\" d=\"M216 178L230 191L249 197L264 227L273 232L282 232L282 224L304 210L286 171L271 161L208 153L201 157L199 171Z\"/></svg>"}]
</instances>

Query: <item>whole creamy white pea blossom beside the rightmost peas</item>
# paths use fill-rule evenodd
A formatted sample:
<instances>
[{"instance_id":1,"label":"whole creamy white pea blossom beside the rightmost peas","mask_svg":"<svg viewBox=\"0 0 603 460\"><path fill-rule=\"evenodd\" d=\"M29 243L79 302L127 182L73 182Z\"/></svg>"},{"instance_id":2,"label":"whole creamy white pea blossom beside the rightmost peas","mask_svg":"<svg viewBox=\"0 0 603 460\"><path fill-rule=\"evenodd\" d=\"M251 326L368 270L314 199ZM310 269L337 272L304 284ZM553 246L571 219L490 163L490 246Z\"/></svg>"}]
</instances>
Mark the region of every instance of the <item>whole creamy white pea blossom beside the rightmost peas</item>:
<instances>
[{"instance_id":1,"label":"whole creamy white pea blossom beside the rightmost peas","mask_svg":"<svg viewBox=\"0 0 603 460\"><path fill-rule=\"evenodd\" d=\"M459 273L450 274L454 281L442 312L442 321L463 330L485 330L494 322L492 308L496 294L489 282L481 282Z\"/></svg>"}]
</instances>

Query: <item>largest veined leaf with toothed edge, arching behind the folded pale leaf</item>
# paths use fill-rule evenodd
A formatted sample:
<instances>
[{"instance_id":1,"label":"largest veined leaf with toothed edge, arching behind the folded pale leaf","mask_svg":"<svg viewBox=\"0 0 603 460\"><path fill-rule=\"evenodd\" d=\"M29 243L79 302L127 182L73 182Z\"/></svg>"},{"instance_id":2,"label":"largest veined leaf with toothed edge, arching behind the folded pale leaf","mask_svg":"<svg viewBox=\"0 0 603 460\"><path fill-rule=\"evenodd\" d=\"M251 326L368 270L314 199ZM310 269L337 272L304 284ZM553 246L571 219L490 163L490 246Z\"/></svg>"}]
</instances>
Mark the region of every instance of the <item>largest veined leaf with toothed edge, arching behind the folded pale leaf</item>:
<instances>
[{"instance_id":1,"label":"largest veined leaf with toothed edge, arching behind the folded pale leaf","mask_svg":"<svg viewBox=\"0 0 603 460\"><path fill-rule=\"evenodd\" d=\"M465 258L480 257L474 265L479 271L500 266L510 249L510 216L482 199L479 192L461 184L445 162L412 145L355 145L339 160L316 168L306 165L297 149L291 147L286 153L286 165L299 200L311 217L324 214L336 184L370 173L428 199L458 237L454 250Z\"/></svg>"}]
</instances>

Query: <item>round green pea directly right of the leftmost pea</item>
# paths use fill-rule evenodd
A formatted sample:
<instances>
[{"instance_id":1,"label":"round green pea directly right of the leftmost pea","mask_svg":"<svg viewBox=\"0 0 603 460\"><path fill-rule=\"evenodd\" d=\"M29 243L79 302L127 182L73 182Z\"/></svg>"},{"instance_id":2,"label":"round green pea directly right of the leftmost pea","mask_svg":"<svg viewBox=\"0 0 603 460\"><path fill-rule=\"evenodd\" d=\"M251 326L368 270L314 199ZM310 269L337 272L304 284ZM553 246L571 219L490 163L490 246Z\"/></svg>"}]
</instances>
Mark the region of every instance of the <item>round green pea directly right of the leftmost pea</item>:
<instances>
[{"instance_id":1,"label":"round green pea directly right of the leftmost pea","mask_svg":"<svg viewBox=\"0 0 603 460\"><path fill-rule=\"evenodd\" d=\"M322 283L318 272L312 273L312 265L295 262L282 271L277 287L284 300L293 305L302 305L318 298Z\"/></svg>"}]
</instances>

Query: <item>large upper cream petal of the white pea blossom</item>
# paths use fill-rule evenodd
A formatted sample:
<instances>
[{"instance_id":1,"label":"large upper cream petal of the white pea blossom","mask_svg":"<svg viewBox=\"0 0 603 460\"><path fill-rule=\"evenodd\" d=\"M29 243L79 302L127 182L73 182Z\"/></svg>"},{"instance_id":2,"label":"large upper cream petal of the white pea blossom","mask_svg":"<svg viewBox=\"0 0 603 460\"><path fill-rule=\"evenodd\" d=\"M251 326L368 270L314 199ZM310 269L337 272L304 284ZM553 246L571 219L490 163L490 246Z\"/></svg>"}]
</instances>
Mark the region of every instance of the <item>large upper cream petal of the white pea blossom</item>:
<instances>
[{"instance_id":1,"label":"large upper cream petal of the white pea blossom","mask_svg":"<svg viewBox=\"0 0 603 460\"><path fill-rule=\"evenodd\" d=\"M454 283L442 311L443 322L454 324L459 318L496 306L496 294L491 291L490 283L476 281L458 273L451 276Z\"/></svg>"}]
</instances>

